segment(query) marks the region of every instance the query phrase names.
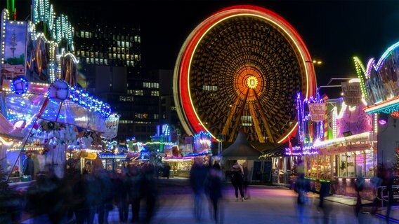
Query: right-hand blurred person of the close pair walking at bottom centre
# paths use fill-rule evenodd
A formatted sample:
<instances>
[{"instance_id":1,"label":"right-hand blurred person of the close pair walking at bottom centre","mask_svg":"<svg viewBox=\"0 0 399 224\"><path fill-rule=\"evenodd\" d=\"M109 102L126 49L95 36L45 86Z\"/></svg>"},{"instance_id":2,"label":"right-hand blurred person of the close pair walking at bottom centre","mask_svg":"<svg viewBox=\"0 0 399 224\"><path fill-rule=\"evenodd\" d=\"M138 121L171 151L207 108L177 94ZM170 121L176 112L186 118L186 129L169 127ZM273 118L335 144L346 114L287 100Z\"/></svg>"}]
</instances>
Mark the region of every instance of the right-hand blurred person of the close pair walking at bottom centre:
<instances>
[{"instance_id":1,"label":"right-hand blurred person of the close pair walking at bottom centre","mask_svg":"<svg viewBox=\"0 0 399 224\"><path fill-rule=\"evenodd\" d=\"M222 180L223 172L217 161L214 162L207 179L207 193L211 202L211 217L218 223L223 223L223 213L221 212L220 201L222 199Z\"/></svg>"}]
</instances>

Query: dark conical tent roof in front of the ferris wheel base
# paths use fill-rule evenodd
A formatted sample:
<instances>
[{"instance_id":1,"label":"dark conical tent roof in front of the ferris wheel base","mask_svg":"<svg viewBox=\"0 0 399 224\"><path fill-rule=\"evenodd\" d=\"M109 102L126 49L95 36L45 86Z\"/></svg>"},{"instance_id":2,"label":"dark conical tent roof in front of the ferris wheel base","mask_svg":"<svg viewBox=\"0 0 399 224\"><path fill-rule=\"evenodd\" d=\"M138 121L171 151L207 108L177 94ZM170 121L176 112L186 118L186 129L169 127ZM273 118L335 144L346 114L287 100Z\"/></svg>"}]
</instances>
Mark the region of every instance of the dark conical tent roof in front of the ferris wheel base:
<instances>
[{"instance_id":1,"label":"dark conical tent roof in front of the ferris wheel base","mask_svg":"<svg viewBox=\"0 0 399 224\"><path fill-rule=\"evenodd\" d=\"M260 155L261 152L249 143L242 130L238 132L234 143L219 154L225 160L257 160Z\"/></svg>"}]
</instances>

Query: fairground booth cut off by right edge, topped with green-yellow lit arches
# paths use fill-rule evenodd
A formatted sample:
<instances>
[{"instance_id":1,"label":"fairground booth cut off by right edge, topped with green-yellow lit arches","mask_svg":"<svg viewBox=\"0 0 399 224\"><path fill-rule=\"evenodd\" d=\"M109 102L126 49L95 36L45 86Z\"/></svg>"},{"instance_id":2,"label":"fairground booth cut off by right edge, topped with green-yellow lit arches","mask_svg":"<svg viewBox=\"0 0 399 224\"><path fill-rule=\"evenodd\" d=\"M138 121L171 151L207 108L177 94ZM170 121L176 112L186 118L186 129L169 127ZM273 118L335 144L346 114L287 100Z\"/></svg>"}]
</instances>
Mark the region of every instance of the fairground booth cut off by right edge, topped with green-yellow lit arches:
<instances>
[{"instance_id":1,"label":"fairground booth cut off by right edge, topped with green-yellow lit arches","mask_svg":"<svg viewBox=\"0 0 399 224\"><path fill-rule=\"evenodd\" d=\"M391 45L377 59L369 59L363 65L355 58L358 77L361 80L362 94L365 96L367 114L378 117L378 162L377 176L383 179L379 187L379 198L387 200L386 182L388 169L393 172L393 185L399 184L399 134L396 122L399 118L399 42ZM399 188L393 188L393 195L399 194Z\"/></svg>"}]
</instances>

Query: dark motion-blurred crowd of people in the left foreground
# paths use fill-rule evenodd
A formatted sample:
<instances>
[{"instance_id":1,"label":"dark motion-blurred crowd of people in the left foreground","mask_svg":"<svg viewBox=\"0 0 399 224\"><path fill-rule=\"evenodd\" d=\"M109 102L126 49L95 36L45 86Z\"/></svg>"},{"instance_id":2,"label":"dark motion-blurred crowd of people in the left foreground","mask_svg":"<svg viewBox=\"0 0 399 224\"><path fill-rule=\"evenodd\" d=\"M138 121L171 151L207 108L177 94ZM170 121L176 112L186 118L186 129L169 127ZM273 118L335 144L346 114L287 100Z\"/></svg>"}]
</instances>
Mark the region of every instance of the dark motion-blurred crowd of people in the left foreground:
<instances>
[{"instance_id":1,"label":"dark motion-blurred crowd of people in the left foreground","mask_svg":"<svg viewBox=\"0 0 399 224\"><path fill-rule=\"evenodd\" d=\"M119 223L150 223L157 205L154 176L150 164L128 165L118 174L87 164L82 173L76 170L65 179L41 175L27 189L25 211L34 223L103 224L117 208ZM145 204L143 212L140 204ZM130 207L133 217L128 220Z\"/></svg>"}]
</instances>

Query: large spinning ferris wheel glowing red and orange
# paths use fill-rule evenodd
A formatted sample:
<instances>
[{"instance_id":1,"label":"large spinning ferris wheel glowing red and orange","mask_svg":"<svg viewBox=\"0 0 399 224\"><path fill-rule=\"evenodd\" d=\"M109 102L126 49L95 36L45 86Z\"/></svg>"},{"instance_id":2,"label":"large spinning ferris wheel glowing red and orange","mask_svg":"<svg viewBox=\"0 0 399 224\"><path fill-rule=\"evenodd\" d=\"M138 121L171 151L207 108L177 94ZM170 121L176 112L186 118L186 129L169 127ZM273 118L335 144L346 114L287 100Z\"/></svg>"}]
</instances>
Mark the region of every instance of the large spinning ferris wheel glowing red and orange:
<instances>
[{"instance_id":1,"label":"large spinning ferris wheel glowing red and orange","mask_svg":"<svg viewBox=\"0 0 399 224\"><path fill-rule=\"evenodd\" d=\"M282 142L297 129L296 95L315 92L315 73L299 34L258 6L233 6L199 24L174 69L174 100L188 134Z\"/></svg>"}]
</instances>

